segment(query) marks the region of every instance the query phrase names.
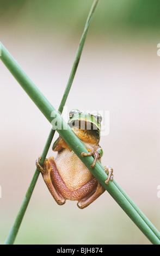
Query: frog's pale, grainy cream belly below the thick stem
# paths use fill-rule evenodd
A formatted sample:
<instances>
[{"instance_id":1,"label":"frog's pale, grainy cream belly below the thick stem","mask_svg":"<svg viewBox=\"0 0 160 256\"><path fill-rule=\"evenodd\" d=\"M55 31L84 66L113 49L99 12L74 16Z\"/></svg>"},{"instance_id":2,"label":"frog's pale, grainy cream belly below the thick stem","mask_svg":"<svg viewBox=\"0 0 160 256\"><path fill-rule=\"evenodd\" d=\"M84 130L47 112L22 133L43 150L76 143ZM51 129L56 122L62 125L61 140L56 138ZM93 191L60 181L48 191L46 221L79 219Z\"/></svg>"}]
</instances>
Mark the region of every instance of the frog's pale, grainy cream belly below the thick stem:
<instances>
[{"instance_id":1,"label":"frog's pale, grainy cream belly below the thick stem","mask_svg":"<svg viewBox=\"0 0 160 256\"><path fill-rule=\"evenodd\" d=\"M69 149L63 149L56 159L58 172L70 191L75 191L94 178L78 156Z\"/></svg>"}]
</instances>

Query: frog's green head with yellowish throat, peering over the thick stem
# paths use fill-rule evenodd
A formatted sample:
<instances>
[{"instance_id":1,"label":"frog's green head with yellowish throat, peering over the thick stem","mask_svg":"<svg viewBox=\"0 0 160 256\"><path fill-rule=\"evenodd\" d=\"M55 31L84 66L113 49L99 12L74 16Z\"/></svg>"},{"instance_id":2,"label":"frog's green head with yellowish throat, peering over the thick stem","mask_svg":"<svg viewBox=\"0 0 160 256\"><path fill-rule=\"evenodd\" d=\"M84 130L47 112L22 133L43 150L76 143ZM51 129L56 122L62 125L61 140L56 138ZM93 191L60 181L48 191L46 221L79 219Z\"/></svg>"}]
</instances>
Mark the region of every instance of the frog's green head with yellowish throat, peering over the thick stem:
<instances>
[{"instance_id":1,"label":"frog's green head with yellowish throat, peering over the thick stem","mask_svg":"<svg viewBox=\"0 0 160 256\"><path fill-rule=\"evenodd\" d=\"M102 117L99 113L81 112L78 109L72 109L69 113L69 126L81 139L94 137L100 140ZM82 138L83 137L83 138Z\"/></svg>"}]
</instances>

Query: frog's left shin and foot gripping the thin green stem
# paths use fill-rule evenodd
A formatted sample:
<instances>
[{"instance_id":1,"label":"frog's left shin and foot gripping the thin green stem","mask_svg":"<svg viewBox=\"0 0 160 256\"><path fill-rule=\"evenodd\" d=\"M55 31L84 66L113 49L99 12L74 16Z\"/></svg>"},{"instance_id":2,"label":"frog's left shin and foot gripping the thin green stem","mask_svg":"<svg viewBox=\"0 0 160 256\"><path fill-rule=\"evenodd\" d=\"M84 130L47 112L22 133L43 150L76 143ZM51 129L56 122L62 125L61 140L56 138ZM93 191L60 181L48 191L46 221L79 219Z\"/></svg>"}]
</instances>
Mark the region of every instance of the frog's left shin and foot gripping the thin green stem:
<instances>
[{"instance_id":1,"label":"frog's left shin and foot gripping the thin green stem","mask_svg":"<svg viewBox=\"0 0 160 256\"><path fill-rule=\"evenodd\" d=\"M48 157L48 159L45 159L43 167L40 165L39 160L40 158L36 160L36 167L41 172L42 177L48 187L48 190L52 194L54 200L56 200L57 204L59 205L65 204L65 201L66 201L65 198L61 196L51 177L52 170L56 168L56 164L54 164L55 163L54 157L51 156L51 157Z\"/></svg>"}]
</instances>

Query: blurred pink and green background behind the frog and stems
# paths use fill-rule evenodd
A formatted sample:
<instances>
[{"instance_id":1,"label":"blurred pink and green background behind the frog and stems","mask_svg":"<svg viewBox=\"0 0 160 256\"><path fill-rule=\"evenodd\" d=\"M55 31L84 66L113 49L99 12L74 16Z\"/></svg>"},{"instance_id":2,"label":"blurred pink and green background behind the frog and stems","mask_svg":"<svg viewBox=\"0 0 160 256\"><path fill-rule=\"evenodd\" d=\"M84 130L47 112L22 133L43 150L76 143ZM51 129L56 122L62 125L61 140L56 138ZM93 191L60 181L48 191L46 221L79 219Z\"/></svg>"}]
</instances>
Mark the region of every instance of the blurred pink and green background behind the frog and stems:
<instances>
[{"instance_id":1,"label":"blurred pink and green background behind the frog and stems","mask_svg":"<svg viewBox=\"0 0 160 256\"><path fill-rule=\"evenodd\" d=\"M58 109L93 0L0 2L1 42ZM109 111L102 164L160 230L159 0L101 0L66 109ZM0 243L35 172L51 125L0 62ZM66 120L67 121L67 120ZM58 137L56 133L53 141ZM52 148L48 155L52 153ZM105 192L84 210L59 206L39 176L15 244L151 244Z\"/></svg>"}]
</instances>

